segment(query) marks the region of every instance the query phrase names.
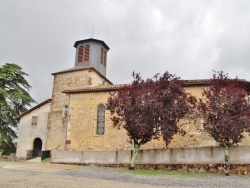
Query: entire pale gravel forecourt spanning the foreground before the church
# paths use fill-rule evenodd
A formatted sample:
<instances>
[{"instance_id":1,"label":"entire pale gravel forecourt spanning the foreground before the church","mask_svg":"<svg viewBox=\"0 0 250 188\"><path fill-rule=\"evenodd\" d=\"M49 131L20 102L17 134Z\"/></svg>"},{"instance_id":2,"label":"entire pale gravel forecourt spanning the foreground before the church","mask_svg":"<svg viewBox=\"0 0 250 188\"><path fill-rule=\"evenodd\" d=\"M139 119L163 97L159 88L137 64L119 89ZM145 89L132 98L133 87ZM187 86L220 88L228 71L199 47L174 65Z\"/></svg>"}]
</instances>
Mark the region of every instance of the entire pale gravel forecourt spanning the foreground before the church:
<instances>
[{"instance_id":1,"label":"entire pale gravel forecourt spanning the foreground before the church","mask_svg":"<svg viewBox=\"0 0 250 188\"><path fill-rule=\"evenodd\" d=\"M31 165L26 163L25 165ZM170 188L249 188L250 176L222 174L188 174L148 176L133 175L119 168L69 166L59 169L53 164L39 164L40 171L19 170L0 165L0 187L170 187ZM19 165L20 166L20 165ZM43 166L51 170L42 171ZM65 165L64 165L65 166ZM54 167L54 170L53 170ZM56 168L55 168L56 167ZM66 169L66 170L65 170Z\"/></svg>"}]
</instances>

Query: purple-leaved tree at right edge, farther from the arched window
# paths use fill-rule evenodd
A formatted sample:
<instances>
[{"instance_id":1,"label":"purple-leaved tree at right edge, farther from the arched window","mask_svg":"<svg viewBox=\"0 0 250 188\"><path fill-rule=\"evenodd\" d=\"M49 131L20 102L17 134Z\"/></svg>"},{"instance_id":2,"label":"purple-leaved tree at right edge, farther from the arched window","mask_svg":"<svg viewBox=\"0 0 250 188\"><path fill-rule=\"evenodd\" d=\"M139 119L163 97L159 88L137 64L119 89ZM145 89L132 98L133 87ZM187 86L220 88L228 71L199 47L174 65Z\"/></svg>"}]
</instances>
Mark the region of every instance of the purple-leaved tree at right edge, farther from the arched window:
<instances>
[{"instance_id":1,"label":"purple-leaved tree at right edge, farther from the arched window","mask_svg":"<svg viewBox=\"0 0 250 188\"><path fill-rule=\"evenodd\" d=\"M204 130L224 148L225 175L229 175L229 147L237 145L250 131L250 105L246 83L230 79L222 71L214 72L208 88L203 89L198 109L204 118Z\"/></svg>"}]
</instances>

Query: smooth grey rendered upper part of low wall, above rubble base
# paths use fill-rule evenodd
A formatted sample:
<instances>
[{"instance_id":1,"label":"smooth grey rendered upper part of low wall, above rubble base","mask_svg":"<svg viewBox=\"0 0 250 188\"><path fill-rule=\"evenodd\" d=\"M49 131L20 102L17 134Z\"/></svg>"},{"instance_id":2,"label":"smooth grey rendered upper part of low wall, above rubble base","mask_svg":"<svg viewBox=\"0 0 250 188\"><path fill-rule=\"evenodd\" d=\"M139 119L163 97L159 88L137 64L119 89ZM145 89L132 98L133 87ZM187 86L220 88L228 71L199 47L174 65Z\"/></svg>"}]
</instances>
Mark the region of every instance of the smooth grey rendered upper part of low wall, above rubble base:
<instances>
[{"instance_id":1,"label":"smooth grey rendered upper part of low wall, above rubble base","mask_svg":"<svg viewBox=\"0 0 250 188\"><path fill-rule=\"evenodd\" d=\"M229 149L230 164L250 164L250 147L238 146ZM131 150L121 151L51 151L51 160L56 163L129 164ZM173 148L140 150L138 164L223 164L221 147Z\"/></svg>"}]
</instances>

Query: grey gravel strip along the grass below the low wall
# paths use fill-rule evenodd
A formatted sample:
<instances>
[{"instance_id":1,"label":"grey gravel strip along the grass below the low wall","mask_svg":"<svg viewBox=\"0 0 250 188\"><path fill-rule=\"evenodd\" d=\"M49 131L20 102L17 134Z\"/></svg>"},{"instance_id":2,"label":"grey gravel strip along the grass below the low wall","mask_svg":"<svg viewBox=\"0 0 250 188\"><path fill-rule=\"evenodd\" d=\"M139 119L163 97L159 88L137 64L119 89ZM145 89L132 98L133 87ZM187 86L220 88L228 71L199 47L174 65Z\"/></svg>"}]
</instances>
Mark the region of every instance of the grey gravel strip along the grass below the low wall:
<instances>
[{"instance_id":1,"label":"grey gravel strip along the grass below the low wall","mask_svg":"<svg viewBox=\"0 0 250 188\"><path fill-rule=\"evenodd\" d=\"M59 171L57 175L72 177L87 177L93 179L111 180L117 182L133 182L159 187L202 187L202 188L249 188L249 176L225 177L222 174L191 174L189 175L168 175L168 176L149 176L133 175L121 173L115 168L84 167L79 171Z\"/></svg>"}]
</instances>

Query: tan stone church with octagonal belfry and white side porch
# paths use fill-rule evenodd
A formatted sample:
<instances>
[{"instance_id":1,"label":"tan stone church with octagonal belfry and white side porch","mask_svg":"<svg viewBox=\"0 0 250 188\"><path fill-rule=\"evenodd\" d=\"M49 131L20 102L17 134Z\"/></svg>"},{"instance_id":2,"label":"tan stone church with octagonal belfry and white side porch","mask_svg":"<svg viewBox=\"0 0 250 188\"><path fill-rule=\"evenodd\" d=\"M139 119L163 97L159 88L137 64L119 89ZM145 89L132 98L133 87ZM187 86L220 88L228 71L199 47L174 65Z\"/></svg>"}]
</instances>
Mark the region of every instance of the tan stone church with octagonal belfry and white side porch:
<instances>
[{"instance_id":1,"label":"tan stone church with octagonal belfry and white side porch","mask_svg":"<svg viewBox=\"0 0 250 188\"><path fill-rule=\"evenodd\" d=\"M125 130L117 130L106 110L114 85L106 78L108 45L101 40L86 39L74 44L73 68L55 72L51 99L21 114L17 158L41 156L43 151L114 151L131 150ZM201 97L201 89L209 80L187 80L185 89ZM216 143L201 134L203 121L198 119L182 125L187 134L176 135L168 147L214 146ZM250 145L245 139L243 145ZM142 149L166 148L162 139L152 140Z\"/></svg>"}]
</instances>

